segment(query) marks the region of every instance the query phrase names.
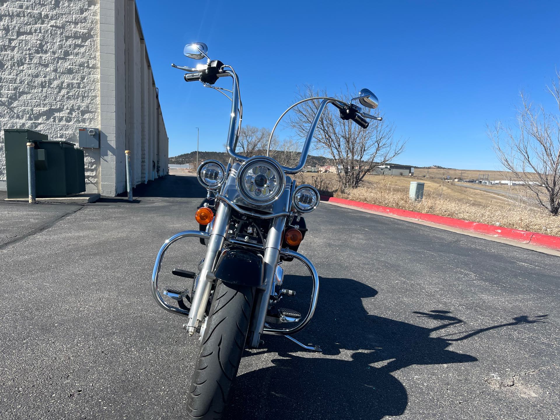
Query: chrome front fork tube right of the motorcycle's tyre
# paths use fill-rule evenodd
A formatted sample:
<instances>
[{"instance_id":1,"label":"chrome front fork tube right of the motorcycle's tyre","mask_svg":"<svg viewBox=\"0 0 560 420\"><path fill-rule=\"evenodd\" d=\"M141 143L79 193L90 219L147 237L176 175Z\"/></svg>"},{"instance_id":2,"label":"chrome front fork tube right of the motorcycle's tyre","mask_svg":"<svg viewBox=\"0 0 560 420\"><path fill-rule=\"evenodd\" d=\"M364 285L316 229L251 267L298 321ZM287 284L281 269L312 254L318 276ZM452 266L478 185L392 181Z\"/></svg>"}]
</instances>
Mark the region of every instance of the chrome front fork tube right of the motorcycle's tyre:
<instances>
[{"instance_id":1,"label":"chrome front fork tube right of the motorcycle's tyre","mask_svg":"<svg viewBox=\"0 0 560 420\"><path fill-rule=\"evenodd\" d=\"M282 246L282 234L286 226L286 216L274 218L272 227L268 231L267 241L264 246L264 285L265 290L259 290L256 297L255 311L253 316L253 337L251 337L250 347L256 348L260 343L260 334L263 332L264 321L267 316L270 292L274 283L276 265L280 257Z\"/></svg>"}]
</instances>

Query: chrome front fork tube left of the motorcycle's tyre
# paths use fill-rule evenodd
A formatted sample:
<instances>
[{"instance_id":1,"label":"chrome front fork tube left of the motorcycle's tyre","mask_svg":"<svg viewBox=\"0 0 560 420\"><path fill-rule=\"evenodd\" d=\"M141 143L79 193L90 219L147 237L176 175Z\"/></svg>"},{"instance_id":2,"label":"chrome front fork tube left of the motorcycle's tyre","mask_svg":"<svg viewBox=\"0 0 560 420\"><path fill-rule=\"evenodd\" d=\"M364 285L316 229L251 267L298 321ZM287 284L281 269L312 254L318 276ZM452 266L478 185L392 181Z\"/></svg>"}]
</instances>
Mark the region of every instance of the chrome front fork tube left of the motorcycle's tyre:
<instances>
[{"instance_id":1,"label":"chrome front fork tube left of the motorcycle's tyre","mask_svg":"<svg viewBox=\"0 0 560 420\"><path fill-rule=\"evenodd\" d=\"M194 290L193 303L190 306L189 320L186 324L186 330L189 335L193 335L202 323L204 310L206 309L206 304L212 291L212 284L214 283L214 277L208 276L208 274L212 273L216 259L223 248L227 228L230 225L230 216L231 207L221 201L216 210L216 219L208 239L204 264L200 270L197 287Z\"/></svg>"}]
</instances>

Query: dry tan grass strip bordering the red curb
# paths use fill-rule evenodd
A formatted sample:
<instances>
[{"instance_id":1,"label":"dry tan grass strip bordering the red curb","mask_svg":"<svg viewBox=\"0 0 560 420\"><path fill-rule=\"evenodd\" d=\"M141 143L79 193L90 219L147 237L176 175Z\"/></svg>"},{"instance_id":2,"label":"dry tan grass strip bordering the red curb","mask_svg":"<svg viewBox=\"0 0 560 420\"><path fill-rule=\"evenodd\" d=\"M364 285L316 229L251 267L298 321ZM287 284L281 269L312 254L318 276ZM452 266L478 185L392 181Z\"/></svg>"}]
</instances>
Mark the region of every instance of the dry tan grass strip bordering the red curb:
<instances>
[{"instance_id":1,"label":"dry tan grass strip bordering the red curb","mask_svg":"<svg viewBox=\"0 0 560 420\"><path fill-rule=\"evenodd\" d=\"M408 198L412 180L424 182L424 198L421 202L411 202ZM378 206L560 236L560 217L498 194L465 188L452 181L447 183L417 177L372 175L367 177L364 186L345 193L338 189L335 174L301 174L297 181L314 185L323 192L330 191L335 197Z\"/></svg>"}]
</instances>

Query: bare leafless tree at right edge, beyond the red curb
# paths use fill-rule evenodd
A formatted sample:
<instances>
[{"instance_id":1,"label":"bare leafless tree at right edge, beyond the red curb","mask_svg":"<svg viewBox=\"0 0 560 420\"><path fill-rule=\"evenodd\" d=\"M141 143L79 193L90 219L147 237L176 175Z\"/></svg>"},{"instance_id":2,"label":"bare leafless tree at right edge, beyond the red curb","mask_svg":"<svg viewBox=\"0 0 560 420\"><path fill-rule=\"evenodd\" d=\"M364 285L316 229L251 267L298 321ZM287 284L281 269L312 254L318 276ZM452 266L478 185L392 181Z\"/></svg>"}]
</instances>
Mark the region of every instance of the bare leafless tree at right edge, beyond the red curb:
<instances>
[{"instance_id":1,"label":"bare leafless tree at right edge, beyond the red curb","mask_svg":"<svg viewBox=\"0 0 560 420\"><path fill-rule=\"evenodd\" d=\"M496 122L488 127L494 151L501 164L511 171L554 216L560 211L560 72L548 91L556 100L558 114L534 106L521 92L515 127Z\"/></svg>"}]
</instances>

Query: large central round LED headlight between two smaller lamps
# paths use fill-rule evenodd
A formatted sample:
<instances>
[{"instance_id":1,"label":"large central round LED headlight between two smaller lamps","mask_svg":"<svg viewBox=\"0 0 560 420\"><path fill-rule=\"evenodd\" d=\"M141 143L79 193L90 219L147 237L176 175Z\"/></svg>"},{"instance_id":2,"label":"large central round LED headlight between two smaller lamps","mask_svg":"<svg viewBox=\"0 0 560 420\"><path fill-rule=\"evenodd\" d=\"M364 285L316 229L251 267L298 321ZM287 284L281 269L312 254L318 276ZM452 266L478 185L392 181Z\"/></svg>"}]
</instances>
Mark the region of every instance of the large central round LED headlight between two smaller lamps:
<instances>
[{"instance_id":1,"label":"large central round LED headlight between two smaller lamps","mask_svg":"<svg viewBox=\"0 0 560 420\"><path fill-rule=\"evenodd\" d=\"M251 157L237 172L237 189L251 204L272 203L280 197L285 184L282 167L269 157Z\"/></svg>"}]
</instances>

